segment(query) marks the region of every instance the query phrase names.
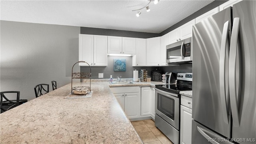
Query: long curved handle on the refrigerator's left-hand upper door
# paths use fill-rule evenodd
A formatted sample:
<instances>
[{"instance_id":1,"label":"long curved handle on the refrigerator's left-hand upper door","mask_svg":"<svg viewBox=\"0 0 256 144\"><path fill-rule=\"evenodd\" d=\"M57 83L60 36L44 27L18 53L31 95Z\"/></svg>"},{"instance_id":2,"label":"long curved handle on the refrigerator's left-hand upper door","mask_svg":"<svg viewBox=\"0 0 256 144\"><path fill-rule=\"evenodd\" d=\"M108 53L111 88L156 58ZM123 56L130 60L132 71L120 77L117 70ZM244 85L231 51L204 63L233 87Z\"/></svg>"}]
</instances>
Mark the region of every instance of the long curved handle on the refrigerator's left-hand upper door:
<instances>
[{"instance_id":1,"label":"long curved handle on the refrigerator's left-hand upper door","mask_svg":"<svg viewBox=\"0 0 256 144\"><path fill-rule=\"evenodd\" d=\"M222 32L222 40L220 44L220 102L222 107L222 114L224 118L224 122L226 124L229 123L228 120L228 106L227 102L229 102L229 88L226 86L226 56L228 56L229 53L229 44L228 42L228 30L229 30L229 21L225 22L223 26L223 32ZM228 65L228 64L227 64ZM226 71L225 71L226 70ZM227 95L226 95L227 92ZM228 97L228 100L227 100Z\"/></svg>"}]
</instances>

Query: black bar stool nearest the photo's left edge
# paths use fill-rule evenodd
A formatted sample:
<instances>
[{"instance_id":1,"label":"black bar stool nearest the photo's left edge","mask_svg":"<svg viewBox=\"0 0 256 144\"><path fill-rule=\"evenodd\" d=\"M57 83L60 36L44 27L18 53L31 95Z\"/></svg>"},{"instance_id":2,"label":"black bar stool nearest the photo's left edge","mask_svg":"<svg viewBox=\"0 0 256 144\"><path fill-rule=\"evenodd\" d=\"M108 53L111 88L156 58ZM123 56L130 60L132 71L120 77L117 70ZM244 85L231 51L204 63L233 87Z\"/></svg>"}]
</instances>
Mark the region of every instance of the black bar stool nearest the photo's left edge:
<instances>
[{"instance_id":1,"label":"black bar stool nearest the photo's left edge","mask_svg":"<svg viewBox=\"0 0 256 144\"><path fill-rule=\"evenodd\" d=\"M9 100L6 98L6 94L16 94L16 100ZM5 92L0 92L1 95L1 102L0 102L0 109L1 112L6 112L7 110L10 110L18 105L20 105L20 92L19 91L5 91ZM5 99L5 101L3 101Z\"/></svg>"}]
</instances>

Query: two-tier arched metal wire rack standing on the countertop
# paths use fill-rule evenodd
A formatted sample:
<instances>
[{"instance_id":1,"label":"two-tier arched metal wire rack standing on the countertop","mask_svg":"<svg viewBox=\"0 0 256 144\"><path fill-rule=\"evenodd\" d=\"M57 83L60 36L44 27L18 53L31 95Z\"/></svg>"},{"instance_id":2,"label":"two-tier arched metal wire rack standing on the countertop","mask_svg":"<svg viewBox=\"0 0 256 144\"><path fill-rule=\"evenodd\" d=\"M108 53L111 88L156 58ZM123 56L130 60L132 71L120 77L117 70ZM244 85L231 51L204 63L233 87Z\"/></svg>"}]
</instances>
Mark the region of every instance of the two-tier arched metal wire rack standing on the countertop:
<instances>
[{"instance_id":1,"label":"two-tier arched metal wire rack standing on the countertop","mask_svg":"<svg viewBox=\"0 0 256 144\"><path fill-rule=\"evenodd\" d=\"M76 62L75 64L80 63L80 62L84 62L84 61L79 61L79 62ZM87 62L85 62L85 63L88 64ZM91 77L92 77L91 66L88 64L88 66L90 67L90 72L73 72L74 65L72 67L72 76L71 76L71 94L75 94L75 95L89 94L91 92ZM73 87L73 79L74 78L90 79L90 86L76 86L76 87Z\"/></svg>"}]
</instances>

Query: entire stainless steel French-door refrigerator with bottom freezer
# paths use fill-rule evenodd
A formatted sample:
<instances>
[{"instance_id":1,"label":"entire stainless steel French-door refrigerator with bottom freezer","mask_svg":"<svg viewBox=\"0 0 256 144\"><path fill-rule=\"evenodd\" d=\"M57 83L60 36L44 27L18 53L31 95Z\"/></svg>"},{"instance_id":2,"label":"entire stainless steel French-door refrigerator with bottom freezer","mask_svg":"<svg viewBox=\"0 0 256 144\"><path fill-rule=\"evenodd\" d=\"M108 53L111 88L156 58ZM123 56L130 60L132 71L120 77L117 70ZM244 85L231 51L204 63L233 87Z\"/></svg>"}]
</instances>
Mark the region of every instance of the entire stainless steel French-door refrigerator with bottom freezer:
<instances>
[{"instance_id":1,"label":"entire stainless steel French-door refrigerator with bottom freezer","mask_svg":"<svg viewBox=\"0 0 256 144\"><path fill-rule=\"evenodd\" d=\"M256 1L193 26L192 144L256 143Z\"/></svg>"}]
</instances>

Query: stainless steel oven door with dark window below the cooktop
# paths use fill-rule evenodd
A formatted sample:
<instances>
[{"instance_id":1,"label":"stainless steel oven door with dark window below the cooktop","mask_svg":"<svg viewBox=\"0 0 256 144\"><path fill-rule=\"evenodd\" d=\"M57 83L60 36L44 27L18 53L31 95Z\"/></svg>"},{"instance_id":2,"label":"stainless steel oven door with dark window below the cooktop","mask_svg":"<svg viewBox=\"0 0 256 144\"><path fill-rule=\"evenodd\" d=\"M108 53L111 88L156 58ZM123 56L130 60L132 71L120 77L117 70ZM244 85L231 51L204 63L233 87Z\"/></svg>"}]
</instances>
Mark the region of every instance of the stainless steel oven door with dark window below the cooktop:
<instances>
[{"instance_id":1,"label":"stainless steel oven door with dark window below the cooktop","mask_svg":"<svg viewBox=\"0 0 256 144\"><path fill-rule=\"evenodd\" d=\"M180 98L156 88L156 114L179 130Z\"/></svg>"}]
</instances>

